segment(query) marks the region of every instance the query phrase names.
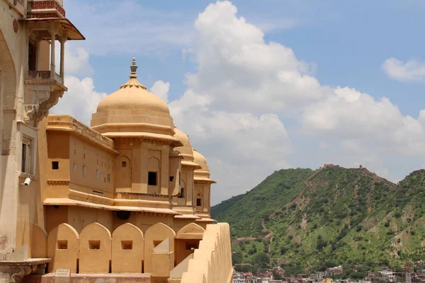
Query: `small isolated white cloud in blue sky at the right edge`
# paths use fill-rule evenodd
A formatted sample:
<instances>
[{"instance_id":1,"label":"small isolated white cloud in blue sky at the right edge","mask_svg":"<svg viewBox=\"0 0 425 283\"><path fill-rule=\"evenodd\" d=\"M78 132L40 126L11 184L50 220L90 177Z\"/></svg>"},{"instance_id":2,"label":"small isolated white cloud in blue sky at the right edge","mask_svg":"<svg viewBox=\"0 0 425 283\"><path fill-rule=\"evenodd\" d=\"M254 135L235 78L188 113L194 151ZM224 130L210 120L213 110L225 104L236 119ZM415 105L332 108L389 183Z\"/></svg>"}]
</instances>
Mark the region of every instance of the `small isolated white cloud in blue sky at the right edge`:
<instances>
[{"instance_id":1,"label":"small isolated white cloud in blue sky at the right edge","mask_svg":"<svg viewBox=\"0 0 425 283\"><path fill-rule=\"evenodd\" d=\"M425 81L425 62L417 59L403 62L391 57L385 60L382 69L396 81Z\"/></svg>"}]
</instances>

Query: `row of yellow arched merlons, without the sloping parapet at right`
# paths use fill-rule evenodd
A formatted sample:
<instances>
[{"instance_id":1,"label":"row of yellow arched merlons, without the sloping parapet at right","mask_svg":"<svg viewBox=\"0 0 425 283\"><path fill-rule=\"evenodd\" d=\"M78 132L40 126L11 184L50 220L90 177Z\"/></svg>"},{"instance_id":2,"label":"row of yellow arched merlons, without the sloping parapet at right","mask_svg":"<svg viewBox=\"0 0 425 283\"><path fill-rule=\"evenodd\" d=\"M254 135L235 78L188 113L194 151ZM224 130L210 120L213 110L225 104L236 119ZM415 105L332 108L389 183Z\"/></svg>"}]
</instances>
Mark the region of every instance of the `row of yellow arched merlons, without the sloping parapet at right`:
<instances>
[{"instance_id":1,"label":"row of yellow arched merlons, without the sloping parapet at right","mask_svg":"<svg viewBox=\"0 0 425 283\"><path fill-rule=\"evenodd\" d=\"M62 223L47 237L40 231L37 241L40 255L42 242L47 243L47 256L52 259L49 272L62 268L81 274L145 272L166 279L176 265L175 253L179 255L179 262L193 253L203 232L197 224L183 227L177 233L178 250L174 245L176 233L162 223L151 226L145 234L129 223L113 233L97 222L86 226L81 233Z\"/></svg>"}]
</instances>

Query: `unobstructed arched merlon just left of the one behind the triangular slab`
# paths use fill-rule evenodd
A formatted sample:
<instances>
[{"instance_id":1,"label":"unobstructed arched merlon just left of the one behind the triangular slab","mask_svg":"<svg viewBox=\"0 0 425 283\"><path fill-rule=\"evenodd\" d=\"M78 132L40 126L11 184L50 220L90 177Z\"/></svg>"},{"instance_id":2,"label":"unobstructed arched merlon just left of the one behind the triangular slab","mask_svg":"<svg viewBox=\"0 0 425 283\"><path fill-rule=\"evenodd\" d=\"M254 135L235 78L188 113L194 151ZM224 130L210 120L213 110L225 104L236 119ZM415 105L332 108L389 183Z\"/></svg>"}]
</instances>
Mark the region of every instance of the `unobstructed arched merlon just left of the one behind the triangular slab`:
<instances>
[{"instance_id":1,"label":"unobstructed arched merlon just left of the one behind the triangular slab","mask_svg":"<svg viewBox=\"0 0 425 283\"><path fill-rule=\"evenodd\" d=\"M144 255L143 233L125 223L112 233L112 272L142 273Z\"/></svg>"}]
</instances>

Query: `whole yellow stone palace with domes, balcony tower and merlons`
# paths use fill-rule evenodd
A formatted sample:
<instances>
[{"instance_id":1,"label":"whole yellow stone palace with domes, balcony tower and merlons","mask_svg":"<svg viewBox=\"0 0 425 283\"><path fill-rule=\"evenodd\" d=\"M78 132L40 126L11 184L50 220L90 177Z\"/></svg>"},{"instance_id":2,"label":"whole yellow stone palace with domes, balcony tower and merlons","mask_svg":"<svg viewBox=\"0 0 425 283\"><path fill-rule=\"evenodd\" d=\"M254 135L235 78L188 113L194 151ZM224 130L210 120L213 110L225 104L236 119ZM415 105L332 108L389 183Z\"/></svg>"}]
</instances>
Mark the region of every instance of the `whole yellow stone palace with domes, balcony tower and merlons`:
<instances>
[{"instance_id":1,"label":"whole yellow stone palace with domes, balcony tower and merlons","mask_svg":"<svg viewBox=\"0 0 425 283\"><path fill-rule=\"evenodd\" d=\"M134 58L90 127L49 115L67 91L68 40L84 36L62 1L0 1L0 283L67 270L73 282L231 282L207 161L137 81Z\"/></svg>"}]
</instances>

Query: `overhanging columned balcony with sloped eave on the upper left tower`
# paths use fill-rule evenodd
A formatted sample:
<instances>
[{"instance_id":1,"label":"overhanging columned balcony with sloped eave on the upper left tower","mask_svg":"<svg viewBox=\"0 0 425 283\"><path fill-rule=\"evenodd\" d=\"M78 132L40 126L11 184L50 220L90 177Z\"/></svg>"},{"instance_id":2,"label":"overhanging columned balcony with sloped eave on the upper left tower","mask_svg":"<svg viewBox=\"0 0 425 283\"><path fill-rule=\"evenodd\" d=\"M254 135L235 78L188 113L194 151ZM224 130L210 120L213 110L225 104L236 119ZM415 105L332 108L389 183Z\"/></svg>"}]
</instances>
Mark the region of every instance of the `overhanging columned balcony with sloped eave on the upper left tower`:
<instances>
[{"instance_id":1,"label":"overhanging columned balcony with sloped eave on the upper left tower","mask_svg":"<svg viewBox=\"0 0 425 283\"><path fill-rule=\"evenodd\" d=\"M39 3L59 1L30 1L28 5L34 7ZM47 4L46 4L47 5ZM50 7L51 3L47 6ZM62 6L61 6L62 7ZM42 8L39 6L38 8ZM37 9L39 11L40 9ZM42 10L42 9L41 9ZM46 10L47 11L47 10ZM46 12L50 13L50 12ZM30 16L30 15L28 15ZM79 30L66 18L26 18L28 36L28 68L25 78L25 115L28 125L37 126L49 114L50 108L55 106L67 91L64 86L64 45L67 40L84 40ZM60 74L56 74L55 46L60 43Z\"/></svg>"}]
</instances>

